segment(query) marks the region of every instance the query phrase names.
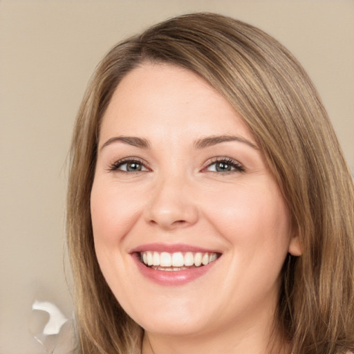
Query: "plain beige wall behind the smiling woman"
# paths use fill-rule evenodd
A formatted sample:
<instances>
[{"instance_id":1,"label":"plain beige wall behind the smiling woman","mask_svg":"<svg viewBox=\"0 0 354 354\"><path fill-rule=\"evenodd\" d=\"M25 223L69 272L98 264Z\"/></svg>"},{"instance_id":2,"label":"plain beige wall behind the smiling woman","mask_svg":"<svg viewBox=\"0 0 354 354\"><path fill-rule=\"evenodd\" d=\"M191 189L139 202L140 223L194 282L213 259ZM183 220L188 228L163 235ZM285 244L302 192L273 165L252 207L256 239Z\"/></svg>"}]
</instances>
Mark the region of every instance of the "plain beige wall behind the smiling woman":
<instances>
[{"instance_id":1,"label":"plain beige wall behind the smiling woman","mask_svg":"<svg viewBox=\"0 0 354 354\"><path fill-rule=\"evenodd\" d=\"M313 78L354 169L354 1L0 1L0 353L41 353L35 299L67 317L64 168L88 78L115 42L183 12L221 12L279 39Z\"/></svg>"}]
</instances>

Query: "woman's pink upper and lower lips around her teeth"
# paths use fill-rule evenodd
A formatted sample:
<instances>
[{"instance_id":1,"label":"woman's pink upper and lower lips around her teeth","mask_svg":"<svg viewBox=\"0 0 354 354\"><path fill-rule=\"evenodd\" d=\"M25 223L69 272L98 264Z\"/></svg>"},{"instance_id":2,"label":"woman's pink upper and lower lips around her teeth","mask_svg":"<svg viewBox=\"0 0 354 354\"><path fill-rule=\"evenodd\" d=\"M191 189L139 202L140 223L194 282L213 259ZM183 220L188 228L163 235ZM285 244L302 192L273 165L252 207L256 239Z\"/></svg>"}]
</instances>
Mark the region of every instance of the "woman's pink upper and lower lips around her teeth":
<instances>
[{"instance_id":1,"label":"woman's pink upper and lower lips around her teeth","mask_svg":"<svg viewBox=\"0 0 354 354\"><path fill-rule=\"evenodd\" d=\"M207 265L203 265L198 268L190 268L187 270L176 270L176 271L168 271L168 270L155 270L147 267L143 264L139 259L139 253L144 251L156 251L156 252L216 252L214 250L207 250L205 248L198 248L191 245L165 245L162 243L149 243L147 245L140 245L137 248L131 250L131 256L135 261L138 270L140 273L146 277L147 279L154 281L163 286L180 286L190 281L194 281L195 279L203 276L206 272L208 272L214 264L218 261L209 263Z\"/></svg>"}]
</instances>

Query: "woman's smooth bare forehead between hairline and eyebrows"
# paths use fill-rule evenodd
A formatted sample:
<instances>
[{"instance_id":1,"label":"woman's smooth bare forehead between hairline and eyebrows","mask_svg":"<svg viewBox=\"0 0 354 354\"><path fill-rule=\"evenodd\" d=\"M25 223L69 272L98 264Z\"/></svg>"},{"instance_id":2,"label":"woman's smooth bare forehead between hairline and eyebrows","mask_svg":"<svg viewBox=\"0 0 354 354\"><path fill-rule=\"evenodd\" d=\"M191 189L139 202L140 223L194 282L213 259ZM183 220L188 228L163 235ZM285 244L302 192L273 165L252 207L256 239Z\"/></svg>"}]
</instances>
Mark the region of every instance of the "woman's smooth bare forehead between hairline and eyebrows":
<instances>
[{"instance_id":1,"label":"woman's smooth bare forehead between hairline and eyebrows","mask_svg":"<svg viewBox=\"0 0 354 354\"><path fill-rule=\"evenodd\" d=\"M102 121L112 134L186 137L237 133L250 138L234 108L201 77L171 64L142 64L118 84Z\"/></svg>"}]
</instances>

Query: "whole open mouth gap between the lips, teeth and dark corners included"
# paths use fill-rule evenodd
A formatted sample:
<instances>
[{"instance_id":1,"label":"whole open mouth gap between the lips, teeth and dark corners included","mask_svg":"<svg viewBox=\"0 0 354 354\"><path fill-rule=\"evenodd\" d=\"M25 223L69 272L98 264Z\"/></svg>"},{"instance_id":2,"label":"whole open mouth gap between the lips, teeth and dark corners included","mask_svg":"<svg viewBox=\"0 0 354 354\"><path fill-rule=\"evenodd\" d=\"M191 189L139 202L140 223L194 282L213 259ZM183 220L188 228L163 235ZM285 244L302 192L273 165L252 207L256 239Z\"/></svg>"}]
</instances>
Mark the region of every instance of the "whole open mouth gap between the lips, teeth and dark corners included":
<instances>
[{"instance_id":1,"label":"whole open mouth gap between the lips, teeth and dark corners included","mask_svg":"<svg viewBox=\"0 0 354 354\"><path fill-rule=\"evenodd\" d=\"M147 268L167 271L200 268L216 261L220 256L216 252L139 252L140 262Z\"/></svg>"}]
</instances>

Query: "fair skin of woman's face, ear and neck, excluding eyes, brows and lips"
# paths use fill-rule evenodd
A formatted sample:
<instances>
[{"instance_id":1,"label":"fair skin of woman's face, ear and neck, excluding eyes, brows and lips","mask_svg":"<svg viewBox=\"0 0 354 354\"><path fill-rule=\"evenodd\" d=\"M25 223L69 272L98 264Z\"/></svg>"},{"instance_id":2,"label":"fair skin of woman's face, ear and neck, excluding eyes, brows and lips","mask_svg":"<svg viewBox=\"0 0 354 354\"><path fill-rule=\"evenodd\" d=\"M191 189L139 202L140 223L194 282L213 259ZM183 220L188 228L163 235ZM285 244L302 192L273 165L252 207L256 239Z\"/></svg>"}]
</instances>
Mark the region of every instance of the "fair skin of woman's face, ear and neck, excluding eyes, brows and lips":
<instances>
[{"instance_id":1,"label":"fair skin of woman's face, ear and neck, excluding eyes, brows and lips","mask_svg":"<svg viewBox=\"0 0 354 354\"><path fill-rule=\"evenodd\" d=\"M117 136L145 139L149 148L106 143ZM250 144L194 147L209 136ZM110 170L126 158L138 159L141 171ZM237 166L216 171L215 158ZM120 82L100 131L91 214L100 268L145 328L144 354L264 353L281 266L288 252L299 253L298 240L248 127L200 77L142 64ZM201 277L164 285L145 277L131 254L147 243L192 245L221 257Z\"/></svg>"}]
</instances>

